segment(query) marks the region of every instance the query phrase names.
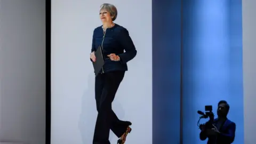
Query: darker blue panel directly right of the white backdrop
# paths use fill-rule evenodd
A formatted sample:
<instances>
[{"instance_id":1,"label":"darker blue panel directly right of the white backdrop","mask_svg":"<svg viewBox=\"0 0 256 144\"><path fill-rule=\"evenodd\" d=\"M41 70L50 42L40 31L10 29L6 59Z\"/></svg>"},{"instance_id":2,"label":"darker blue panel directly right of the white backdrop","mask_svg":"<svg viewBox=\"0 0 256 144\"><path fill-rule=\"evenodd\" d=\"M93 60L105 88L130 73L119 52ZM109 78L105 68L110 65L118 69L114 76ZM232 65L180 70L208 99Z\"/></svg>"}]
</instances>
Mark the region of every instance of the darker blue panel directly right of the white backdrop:
<instances>
[{"instance_id":1,"label":"darker blue panel directly right of the white backdrop","mask_svg":"<svg viewBox=\"0 0 256 144\"><path fill-rule=\"evenodd\" d=\"M180 142L181 1L153 0L153 143Z\"/></svg>"}]
</instances>

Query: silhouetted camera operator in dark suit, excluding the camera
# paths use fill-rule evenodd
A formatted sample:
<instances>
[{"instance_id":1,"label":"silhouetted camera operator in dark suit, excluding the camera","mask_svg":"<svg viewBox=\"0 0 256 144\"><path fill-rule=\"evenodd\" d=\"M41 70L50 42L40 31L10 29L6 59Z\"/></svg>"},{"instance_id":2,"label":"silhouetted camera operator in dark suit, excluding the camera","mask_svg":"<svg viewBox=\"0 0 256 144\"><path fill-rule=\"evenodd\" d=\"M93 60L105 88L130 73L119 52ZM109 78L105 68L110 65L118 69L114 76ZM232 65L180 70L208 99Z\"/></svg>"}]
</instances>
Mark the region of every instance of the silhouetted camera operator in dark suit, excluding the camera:
<instances>
[{"instance_id":1,"label":"silhouetted camera operator in dark suit, excluding the camera","mask_svg":"<svg viewBox=\"0 0 256 144\"><path fill-rule=\"evenodd\" d=\"M205 125L210 122L206 122L202 126L200 133L200 139L206 140L207 144L230 144L235 139L236 124L227 118L229 111L229 105L227 101L220 101L218 103L217 115L218 118L214 119L212 129L206 129Z\"/></svg>"}]
</instances>

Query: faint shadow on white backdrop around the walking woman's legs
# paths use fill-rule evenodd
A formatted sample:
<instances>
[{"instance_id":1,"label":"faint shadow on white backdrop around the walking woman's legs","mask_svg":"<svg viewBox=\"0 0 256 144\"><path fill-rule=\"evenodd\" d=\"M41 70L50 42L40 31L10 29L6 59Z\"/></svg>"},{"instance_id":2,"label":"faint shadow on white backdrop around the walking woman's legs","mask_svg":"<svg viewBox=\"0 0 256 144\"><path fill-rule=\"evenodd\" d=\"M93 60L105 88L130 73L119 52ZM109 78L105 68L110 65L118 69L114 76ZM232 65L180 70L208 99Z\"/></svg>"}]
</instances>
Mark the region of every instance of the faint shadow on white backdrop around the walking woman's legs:
<instances>
[{"instance_id":1,"label":"faint shadow on white backdrop around the walking woman's legs","mask_svg":"<svg viewBox=\"0 0 256 144\"><path fill-rule=\"evenodd\" d=\"M96 101L94 96L94 73L91 73L88 77L88 88L85 90L83 97L82 97L82 110L81 115L79 118L78 129L81 132L81 137L83 144L92 143L93 140L93 133L95 128L95 122L97 119L97 109L96 109ZM112 103L112 108L115 111L116 115L119 119L122 119L124 114L124 109L118 99L115 99ZM109 141L116 142L114 140L115 134L110 131L109 134Z\"/></svg>"}]
</instances>

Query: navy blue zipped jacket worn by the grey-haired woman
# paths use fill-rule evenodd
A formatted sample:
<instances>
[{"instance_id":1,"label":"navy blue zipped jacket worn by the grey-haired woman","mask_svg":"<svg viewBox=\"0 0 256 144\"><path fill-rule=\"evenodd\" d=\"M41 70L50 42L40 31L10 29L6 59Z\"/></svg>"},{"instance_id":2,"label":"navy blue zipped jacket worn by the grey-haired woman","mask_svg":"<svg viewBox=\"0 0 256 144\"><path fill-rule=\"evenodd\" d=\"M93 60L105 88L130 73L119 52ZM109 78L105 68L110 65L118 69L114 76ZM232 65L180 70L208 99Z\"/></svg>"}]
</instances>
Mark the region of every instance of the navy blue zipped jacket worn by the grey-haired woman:
<instances>
[{"instance_id":1,"label":"navy blue zipped jacket worn by the grey-haired woman","mask_svg":"<svg viewBox=\"0 0 256 144\"><path fill-rule=\"evenodd\" d=\"M116 70L127 71L126 63L132 60L137 54L129 32L124 27L117 24L112 28L108 28L105 35L103 34L102 26L94 29L91 52L96 51L99 46L102 46L103 58L105 59L105 64L100 73ZM111 61L107 57L107 55L111 53L118 55L120 61Z\"/></svg>"}]
</instances>

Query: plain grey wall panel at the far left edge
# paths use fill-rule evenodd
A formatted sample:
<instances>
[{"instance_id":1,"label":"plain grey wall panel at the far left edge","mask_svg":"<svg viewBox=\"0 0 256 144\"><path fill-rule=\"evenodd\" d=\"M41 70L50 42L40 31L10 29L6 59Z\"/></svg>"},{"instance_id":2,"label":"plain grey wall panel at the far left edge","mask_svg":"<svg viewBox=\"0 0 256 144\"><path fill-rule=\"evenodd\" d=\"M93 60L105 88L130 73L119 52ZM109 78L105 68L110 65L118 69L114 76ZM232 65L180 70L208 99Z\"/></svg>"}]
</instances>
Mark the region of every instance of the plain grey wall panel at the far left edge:
<instances>
[{"instance_id":1,"label":"plain grey wall panel at the far left edge","mask_svg":"<svg viewBox=\"0 0 256 144\"><path fill-rule=\"evenodd\" d=\"M0 142L45 143L45 0L0 0Z\"/></svg>"}]
</instances>

